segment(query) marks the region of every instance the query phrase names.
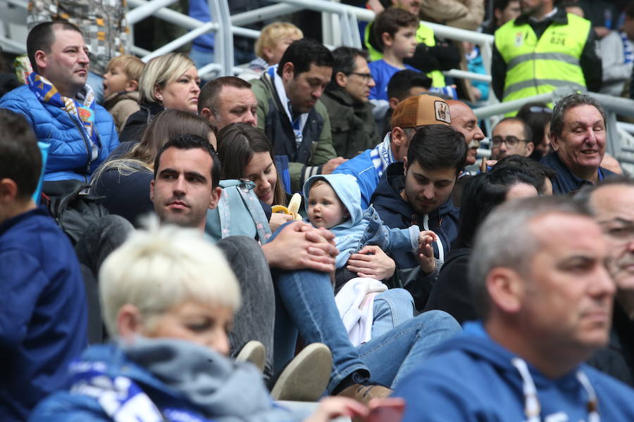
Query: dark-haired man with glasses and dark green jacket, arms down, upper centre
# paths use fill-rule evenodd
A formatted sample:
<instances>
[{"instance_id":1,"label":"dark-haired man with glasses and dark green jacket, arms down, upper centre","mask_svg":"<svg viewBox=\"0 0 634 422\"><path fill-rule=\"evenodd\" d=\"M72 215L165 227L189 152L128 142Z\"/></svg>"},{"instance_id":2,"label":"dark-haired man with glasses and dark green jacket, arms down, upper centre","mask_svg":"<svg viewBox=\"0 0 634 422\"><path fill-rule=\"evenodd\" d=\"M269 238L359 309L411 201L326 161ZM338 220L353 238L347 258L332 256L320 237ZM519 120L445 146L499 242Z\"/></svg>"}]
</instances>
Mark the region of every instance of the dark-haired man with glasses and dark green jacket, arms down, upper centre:
<instances>
[{"instance_id":1,"label":"dark-haired man with glasses and dark green jacket, arms down, upper centre","mask_svg":"<svg viewBox=\"0 0 634 422\"><path fill-rule=\"evenodd\" d=\"M332 79L321 101L330 116L332 146L337 155L353 158L380 142L372 114L374 106L368 100L375 83L366 52L342 46L333 50L332 56Z\"/></svg>"}]
</instances>

